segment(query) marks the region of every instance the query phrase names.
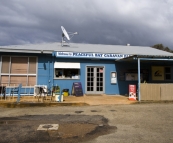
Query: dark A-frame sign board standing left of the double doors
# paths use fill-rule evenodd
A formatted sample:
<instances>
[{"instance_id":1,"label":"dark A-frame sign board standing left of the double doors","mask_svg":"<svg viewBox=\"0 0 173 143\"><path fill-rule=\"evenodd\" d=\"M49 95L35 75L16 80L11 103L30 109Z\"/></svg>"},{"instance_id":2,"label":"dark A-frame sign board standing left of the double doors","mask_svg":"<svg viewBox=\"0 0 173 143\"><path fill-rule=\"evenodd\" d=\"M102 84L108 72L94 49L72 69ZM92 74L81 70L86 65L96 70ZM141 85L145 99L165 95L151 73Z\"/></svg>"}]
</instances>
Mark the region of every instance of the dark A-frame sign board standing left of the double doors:
<instances>
[{"instance_id":1,"label":"dark A-frame sign board standing left of the double doors","mask_svg":"<svg viewBox=\"0 0 173 143\"><path fill-rule=\"evenodd\" d=\"M83 96L82 84L81 82L74 82L72 87L72 95Z\"/></svg>"}]
</instances>

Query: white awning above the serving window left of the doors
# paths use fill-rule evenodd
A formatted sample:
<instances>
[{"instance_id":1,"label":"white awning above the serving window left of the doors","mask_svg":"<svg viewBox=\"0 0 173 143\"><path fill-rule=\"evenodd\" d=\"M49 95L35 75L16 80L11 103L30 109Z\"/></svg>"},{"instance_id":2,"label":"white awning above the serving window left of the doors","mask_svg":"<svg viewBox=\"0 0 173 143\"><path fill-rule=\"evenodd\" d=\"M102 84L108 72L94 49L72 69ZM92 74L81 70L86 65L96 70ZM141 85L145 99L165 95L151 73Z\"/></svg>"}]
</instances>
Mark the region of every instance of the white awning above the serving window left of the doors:
<instances>
[{"instance_id":1,"label":"white awning above the serving window left of the doors","mask_svg":"<svg viewBox=\"0 0 173 143\"><path fill-rule=\"evenodd\" d=\"M80 69L80 63L55 62L54 68L59 69Z\"/></svg>"}]
</instances>

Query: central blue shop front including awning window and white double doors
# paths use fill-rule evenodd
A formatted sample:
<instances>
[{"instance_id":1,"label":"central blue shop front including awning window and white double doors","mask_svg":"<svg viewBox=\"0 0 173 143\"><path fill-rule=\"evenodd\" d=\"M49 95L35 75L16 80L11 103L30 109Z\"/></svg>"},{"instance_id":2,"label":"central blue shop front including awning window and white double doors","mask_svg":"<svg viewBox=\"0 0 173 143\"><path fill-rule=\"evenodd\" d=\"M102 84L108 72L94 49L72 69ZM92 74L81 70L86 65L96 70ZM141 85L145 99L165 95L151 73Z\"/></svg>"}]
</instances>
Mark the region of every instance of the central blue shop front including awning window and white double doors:
<instances>
[{"instance_id":1,"label":"central blue shop front including awning window and white double doors","mask_svg":"<svg viewBox=\"0 0 173 143\"><path fill-rule=\"evenodd\" d=\"M65 65L64 63L73 66L60 67L61 64ZM115 62L112 60L58 59L54 65L57 64L59 68L54 66L53 84L59 85L62 89L69 89L70 94L75 82L82 84L84 94L119 93L117 84L111 84L110 74L116 71Z\"/></svg>"}]
</instances>

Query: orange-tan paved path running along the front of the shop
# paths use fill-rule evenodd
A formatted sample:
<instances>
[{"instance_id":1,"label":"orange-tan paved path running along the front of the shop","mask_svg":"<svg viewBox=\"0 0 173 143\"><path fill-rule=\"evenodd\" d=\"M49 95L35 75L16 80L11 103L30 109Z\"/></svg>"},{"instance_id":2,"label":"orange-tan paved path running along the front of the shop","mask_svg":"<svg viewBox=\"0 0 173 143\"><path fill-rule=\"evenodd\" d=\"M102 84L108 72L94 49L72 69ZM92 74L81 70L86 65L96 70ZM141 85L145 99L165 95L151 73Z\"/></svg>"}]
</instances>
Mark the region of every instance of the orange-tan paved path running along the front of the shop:
<instances>
[{"instance_id":1,"label":"orange-tan paved path running along the front of the shop","mask_svg":"<svg viewBox=\"0 0 173 143\"><path fill-rule=\"evenodd\" d=\"M7 98L6 100L1 99L0 104L12 104L16 103L16 98ZM20 104L29 104L32 105L38 104L46 104L48 105L116 105L116 104L134 104L138 103L138 101L130 101L128 97L121 96L121 95L84 95L84 96L64 96L63 102L55 101L55 97L46 97L44 100L43 98L36 98L33 96L22 96L20 99ZM42 104L41 104L42 103Z\"/></svg>"}]
</instances>

